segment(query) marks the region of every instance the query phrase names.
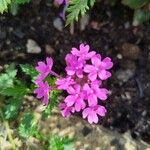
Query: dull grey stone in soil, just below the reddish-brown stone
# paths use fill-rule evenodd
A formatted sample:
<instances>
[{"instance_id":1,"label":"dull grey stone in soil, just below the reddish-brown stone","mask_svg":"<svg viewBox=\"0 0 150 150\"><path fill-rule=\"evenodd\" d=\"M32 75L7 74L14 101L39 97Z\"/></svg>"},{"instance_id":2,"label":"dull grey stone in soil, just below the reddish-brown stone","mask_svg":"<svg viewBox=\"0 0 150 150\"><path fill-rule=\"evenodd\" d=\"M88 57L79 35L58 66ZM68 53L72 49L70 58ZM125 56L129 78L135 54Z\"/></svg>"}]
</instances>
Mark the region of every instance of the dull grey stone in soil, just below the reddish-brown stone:
<instances>
[{"instance_id":1,"label":"dull grey stone in soil, just below the reddish-brown stone","mask_svg":"<svg viewBox=\"0 0 150 150\"><path fill-rule=\"evenodd\" d=\"M127 70L118 70L116 72L116 77L123 82L127 82L130 78L132 78L134 75L134 72L130 69Z\"/></svg>"}]
</instances>

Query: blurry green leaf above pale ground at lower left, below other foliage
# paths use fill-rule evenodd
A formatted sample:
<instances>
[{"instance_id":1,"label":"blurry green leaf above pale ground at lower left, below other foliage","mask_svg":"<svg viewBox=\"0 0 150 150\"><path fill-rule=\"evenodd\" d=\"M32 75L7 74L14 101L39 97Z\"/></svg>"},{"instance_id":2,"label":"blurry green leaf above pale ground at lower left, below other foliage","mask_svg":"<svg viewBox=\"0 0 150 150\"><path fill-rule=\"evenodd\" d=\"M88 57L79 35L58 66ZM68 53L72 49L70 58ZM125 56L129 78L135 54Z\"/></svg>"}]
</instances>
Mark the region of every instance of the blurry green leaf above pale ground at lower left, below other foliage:
<instances>
[{"instance_id":1,"label":"blurry green leaf above pale ground at lower left, below other foliage","mask_svg":"<svg viewBox=\"0 0 150 150\"><path fill-rule=\"evenodd\" d=\"M19 126L19 134L24 138L34 136L38 133L33 113L25 113Z\"/></svg>"}]
</instances>

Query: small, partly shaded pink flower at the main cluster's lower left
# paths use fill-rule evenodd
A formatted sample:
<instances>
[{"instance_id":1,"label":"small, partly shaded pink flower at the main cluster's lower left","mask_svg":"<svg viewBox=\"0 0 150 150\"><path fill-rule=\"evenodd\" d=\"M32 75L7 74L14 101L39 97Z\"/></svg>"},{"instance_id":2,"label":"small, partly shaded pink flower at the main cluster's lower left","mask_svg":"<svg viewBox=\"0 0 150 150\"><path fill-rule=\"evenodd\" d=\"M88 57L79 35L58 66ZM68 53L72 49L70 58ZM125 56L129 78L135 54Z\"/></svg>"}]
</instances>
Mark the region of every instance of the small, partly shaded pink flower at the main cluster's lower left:
<instances>
[{"instance_id":1,"label":"small, partly shaded pink flower at the main cluster's lower left","mask_svg":"<svg viewBox=\"0 0 150 150\"><path fill-rule=\"evenodd\" d=\"M69 117L71 113L75 112L73 107L68 107L65 103L60 103L59 108L61 109L63 117Z\"/></svg>"}]
</instances>

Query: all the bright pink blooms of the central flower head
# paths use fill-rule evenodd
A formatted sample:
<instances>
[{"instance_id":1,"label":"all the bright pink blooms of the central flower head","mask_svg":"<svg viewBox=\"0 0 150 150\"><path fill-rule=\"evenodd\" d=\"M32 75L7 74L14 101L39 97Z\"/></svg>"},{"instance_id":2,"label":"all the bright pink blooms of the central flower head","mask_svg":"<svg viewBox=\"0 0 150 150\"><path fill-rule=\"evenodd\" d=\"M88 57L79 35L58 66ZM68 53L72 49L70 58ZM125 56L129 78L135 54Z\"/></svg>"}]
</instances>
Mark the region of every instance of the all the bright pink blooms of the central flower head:
<instances>
[{"instance_id":1,"label":"all the bright pink blooms of the central flower head","mask_svg":"<svg viewBox=\"0 0 150 150\"><path fill-rule=\"evenodd\" d=\"M102 87L102 81L107 80L111 73L113 63L109 57L101 58L95 51L89 51L89 45L80 44L79 49L72 48L71 53L66 55L66 77L56 80L58 90L65 90L67 97L59 104L62 115L69 117L72 113L81 112L83 118L89 123L98 123L98 117L106 114L106 109L101 105L108 97L108 90ZM45 104L48 103L47 96L50 87L47 82L41 82L51 70L52 61L47 58L47 64L39 62L37 71L40 74L36 80L38 88L35 90L37 98L44 97Z\"/></svg>"}]
</instances>

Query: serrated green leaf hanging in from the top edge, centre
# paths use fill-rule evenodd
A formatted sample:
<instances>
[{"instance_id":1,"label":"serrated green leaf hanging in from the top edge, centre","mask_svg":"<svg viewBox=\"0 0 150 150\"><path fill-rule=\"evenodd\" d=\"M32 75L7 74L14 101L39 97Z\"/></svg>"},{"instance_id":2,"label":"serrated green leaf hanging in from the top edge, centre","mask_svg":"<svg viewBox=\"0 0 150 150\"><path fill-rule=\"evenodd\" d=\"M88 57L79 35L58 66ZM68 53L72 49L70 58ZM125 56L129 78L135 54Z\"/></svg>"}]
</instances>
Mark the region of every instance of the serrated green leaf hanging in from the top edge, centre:
<instances>
[{"instance_id":1,"label":"serrated green leaf hanging in from the top edge, centre","mask_svg":"<svg viewBox=\"0 0 150 150\"><path fill-rule=\"evenodd\" d=\"M67 8L67 22L66 26L73 23L75 20L78 21L79 15L83 16L89 9L89 6L93 6L95 0L71 0Z\"/></svg>"}]
</instances>

